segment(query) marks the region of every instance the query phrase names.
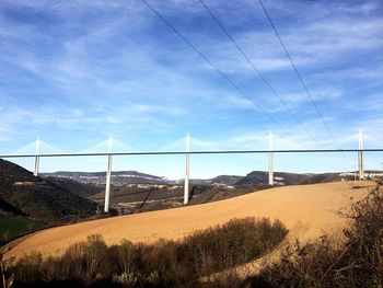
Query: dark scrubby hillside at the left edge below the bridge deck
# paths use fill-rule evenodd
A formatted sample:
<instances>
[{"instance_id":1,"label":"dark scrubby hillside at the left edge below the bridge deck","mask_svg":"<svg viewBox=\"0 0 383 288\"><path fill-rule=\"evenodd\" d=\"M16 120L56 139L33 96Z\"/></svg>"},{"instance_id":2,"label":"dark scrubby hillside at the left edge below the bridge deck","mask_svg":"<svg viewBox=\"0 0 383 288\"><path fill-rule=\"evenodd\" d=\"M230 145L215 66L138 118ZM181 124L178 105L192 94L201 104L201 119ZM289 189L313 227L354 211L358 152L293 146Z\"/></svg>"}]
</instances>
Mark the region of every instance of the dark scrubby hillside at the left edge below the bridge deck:
<instances>
[{"instance_id":1,"label":"dark scrubby hillside at the left edge below the bridge deck","mask_svg":"<svg viewBox=\"0 0 383 288\"><path fill-rule=\"evenodd\" d=\"M97 204L0 159L0 204L46 223L77 221L95 215Z\"/></svg>"}]
</instances>

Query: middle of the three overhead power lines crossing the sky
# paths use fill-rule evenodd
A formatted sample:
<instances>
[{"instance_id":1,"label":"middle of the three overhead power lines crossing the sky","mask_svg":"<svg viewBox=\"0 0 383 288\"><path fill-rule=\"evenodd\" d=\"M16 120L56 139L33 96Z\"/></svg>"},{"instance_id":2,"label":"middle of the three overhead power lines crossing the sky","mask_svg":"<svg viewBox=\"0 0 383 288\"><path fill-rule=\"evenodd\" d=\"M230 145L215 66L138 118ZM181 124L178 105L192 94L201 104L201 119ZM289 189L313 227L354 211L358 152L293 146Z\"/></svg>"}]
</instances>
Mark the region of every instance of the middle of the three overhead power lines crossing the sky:
<instances>
[{"instance_id":1,"label":"middle of the three overhead power lines crossing the sky","mask_svg":"<svg viewBox=\"0 0 383 288\"><path fill-rule=\"evenodd\" d=\"M236 41L233 38L233 36L229 33L229 31L223 26L223 24L219 21L219 19L214 15L214 13L211 11L211 9L202 1L199 0L199 2L204 5L206 11L210 14L210 16L216 21L218 26L222 30L222 32L229 37L229 39L232 42L232 44L235 46L235 48L239 50L239 53L245 58L247 64L252 67L253 71L262 79L262 81L266 84L266 87L271 91L271 93L278 99L278 101L285 106L285 108L293 116L295 122L303 127L303 129L306 131L306 134L310 136L310 138L316 142L317 140L312 135L312 133L307 129L307 127L302 123L295 113L291 111L291 108L286 104L283 99L279 95L279 93L272 88L269 81L264 77L264 74L259 71L259 69L256 68L256 66L253 64L253 61L249 59L249 57L245 54L245 51L241 48L241 46L236 43Z\"/></svg>"}]
</instances>

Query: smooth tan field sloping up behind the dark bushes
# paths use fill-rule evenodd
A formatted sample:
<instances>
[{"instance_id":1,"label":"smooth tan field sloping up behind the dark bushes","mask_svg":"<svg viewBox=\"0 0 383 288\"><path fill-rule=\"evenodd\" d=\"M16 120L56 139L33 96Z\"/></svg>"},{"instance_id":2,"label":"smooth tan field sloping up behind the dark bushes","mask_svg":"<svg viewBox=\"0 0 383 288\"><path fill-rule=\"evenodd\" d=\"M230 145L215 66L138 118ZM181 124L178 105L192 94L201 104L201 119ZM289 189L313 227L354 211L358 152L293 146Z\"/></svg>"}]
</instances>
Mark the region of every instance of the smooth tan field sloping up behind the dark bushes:
<instances>
[{"instance_id":1,"label":"smooth tan field sloping up behind the dark bushes","mask_svg":"<svg viewBox=\"0 0 383 288\"><path fill-rule=\"evenodd\" d=\"M117 244L124 238L132 242L179 239L196 229L247 216L278 218L289 229L290 239L304 241L324 232L336 233L346 226L337 211L365 196L368 187L373 186L364 182L363 188L352 188L351 184L276 187L204 205L57 227L10 243L13 245L7 256L18 257L33 250L44 256L58 255L69 245L85 241L89 234L101 234L107 244Z\"/></svg>"}]
</instances>

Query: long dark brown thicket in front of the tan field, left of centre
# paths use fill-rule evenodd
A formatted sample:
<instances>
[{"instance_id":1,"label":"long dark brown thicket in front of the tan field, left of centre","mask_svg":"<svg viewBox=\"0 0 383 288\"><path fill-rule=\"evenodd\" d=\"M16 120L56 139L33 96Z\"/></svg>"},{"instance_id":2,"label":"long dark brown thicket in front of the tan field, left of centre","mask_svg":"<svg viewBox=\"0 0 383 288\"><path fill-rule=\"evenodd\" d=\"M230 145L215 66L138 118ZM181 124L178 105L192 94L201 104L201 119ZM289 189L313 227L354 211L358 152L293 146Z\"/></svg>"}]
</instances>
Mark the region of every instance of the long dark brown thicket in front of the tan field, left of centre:
<instances>
[{"instance_id":1,"label":"long dark brown thicket in front of the tan field, left of centre","mask_svg":"<svg viewBox=\"0 0 383 288\"><path fill-rule=\"evenodd\" d=\"M32 253L15 266L15 287L179 287L268 253L287 234L280 221L233 219L181 241L106 246L101 235L45 261Z\"/></svg>"}]
</instances>

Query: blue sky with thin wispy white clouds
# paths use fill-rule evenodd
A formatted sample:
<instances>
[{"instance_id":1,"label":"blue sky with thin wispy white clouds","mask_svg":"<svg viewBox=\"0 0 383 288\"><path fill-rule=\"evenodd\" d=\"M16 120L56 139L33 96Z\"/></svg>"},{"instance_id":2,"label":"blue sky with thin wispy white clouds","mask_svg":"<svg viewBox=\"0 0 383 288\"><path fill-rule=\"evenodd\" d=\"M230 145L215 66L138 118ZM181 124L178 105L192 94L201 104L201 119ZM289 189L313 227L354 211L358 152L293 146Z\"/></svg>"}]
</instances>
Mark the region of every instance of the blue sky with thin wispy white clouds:
<instances>
[{"instance_id":1,"label":"blue sky with thin wispy white clouds","mask_svg":"<svg viewBox=\"0 0 383 288\"><path fill-rule=\"evenodd\" d=\"M1 153L33 152L28 143L37 136L49 145L43 145L42 152L106 151L109 134L120 141L115 147L119 151L183 150L187 131L192 150L266 149L269 130L276 149L336 148L258 1L205 2L289 110L198 0L148 2L256 105L139 0L2 0ZM359 128L364 147L382 147L382 1L264 4L338 147L357 148ZM267 169L266 155L192 161L195 177ZM367 168L381 169L383 155L371 153L365 161ZM42 170L101 171L105 162L43 160ZM20 163L28 169L33 164ZM345 171L356 163L355 154L276 157L280 171ZM182 176L184 169L182 157L120 158L114 166L169 177Z\"/></svg>"}]
</instances>

